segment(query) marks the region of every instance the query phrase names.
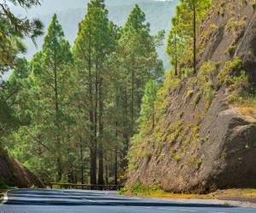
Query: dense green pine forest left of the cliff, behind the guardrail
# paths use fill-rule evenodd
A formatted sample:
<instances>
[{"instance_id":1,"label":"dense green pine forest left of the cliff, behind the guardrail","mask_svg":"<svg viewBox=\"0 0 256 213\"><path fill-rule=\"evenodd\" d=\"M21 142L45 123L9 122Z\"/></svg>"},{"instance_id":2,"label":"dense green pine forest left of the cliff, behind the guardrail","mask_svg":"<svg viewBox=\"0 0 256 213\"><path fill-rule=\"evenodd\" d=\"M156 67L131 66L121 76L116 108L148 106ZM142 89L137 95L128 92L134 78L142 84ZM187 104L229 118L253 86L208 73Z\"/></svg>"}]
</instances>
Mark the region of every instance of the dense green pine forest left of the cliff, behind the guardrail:
<instances>
[{"instance_id":1,"label":"dense green pine forest left of the cliff, behind the guardrail","mask_svg":"<svg viewBox=\"0 0 256 213\"><path fill-rule=\"evenodd\" d=\"M36 44L43 26L1 6L1 71L13 70L1 83L1 146L44 182L118 184L144 88L163 81L156 48L164 32L150 35L138 5L120 28L104 1L92 0L73 46L55 14L43 48L28 61L19 57L23 35Z\"/></svg>"}]
</instances>

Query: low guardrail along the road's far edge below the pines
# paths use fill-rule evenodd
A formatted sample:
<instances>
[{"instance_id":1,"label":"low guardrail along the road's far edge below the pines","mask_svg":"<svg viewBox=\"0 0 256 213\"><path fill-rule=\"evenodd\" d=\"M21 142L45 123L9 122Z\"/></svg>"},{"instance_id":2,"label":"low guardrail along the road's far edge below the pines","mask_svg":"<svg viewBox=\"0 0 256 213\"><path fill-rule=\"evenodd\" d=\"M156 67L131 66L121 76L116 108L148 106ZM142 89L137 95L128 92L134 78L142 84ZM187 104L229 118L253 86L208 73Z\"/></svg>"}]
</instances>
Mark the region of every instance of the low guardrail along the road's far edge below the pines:
<instances>
[{"instance_id":1,"label":"low guardrail along the road's far edge below the pines","mask_svg":"<svg viewBox=\"0 0 256 213\"><path fill-rule=\"evenodd\" d=\"M90 184L75 184L75 183L61 183L61 182L49 182L45 184L50 188L54 188L54 186L59 186L65 189L83 189L83 190L102 190L102 191L112 191L112 190L120 190L121 185L90 185Z\"/></svg>"}]
</instances>

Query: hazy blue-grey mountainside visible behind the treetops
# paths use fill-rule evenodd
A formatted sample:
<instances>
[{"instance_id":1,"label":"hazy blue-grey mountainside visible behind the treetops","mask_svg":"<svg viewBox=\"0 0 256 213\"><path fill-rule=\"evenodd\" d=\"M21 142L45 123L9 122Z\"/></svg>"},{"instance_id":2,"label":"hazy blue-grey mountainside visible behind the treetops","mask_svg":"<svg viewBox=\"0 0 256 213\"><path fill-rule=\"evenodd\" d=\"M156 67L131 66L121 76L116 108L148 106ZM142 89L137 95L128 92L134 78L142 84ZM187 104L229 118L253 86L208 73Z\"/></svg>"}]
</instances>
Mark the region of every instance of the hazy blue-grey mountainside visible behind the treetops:
<instances>
[{"instance_id":1,"label":"hazy blue-grey mountainside visible behind the treetops","mask_svg":"<svg viewBox=\"0 0 256 213\"><path fill-rule=\"evenodd\" d=\"M87 3L89 0L44 0L40 7L30 9L27 11L27 16L30 18L39 18L44 23L44 32L47 31L49 21L53 14L58 15L58 19L61 22L65 35L70 43L73 43L77 32L79 22L83 19L86 13ZM109 10L109 19L118 26L124 26L131 9L135 3L139 4L140 7L146 14L147 21L151 25L151 32L155 34L160 30L169 32L171 27L171 17L175 12L175 7L178 0L171 1L156 1L156 0L107 0L107 8ZM20 8L14 8L15 14L24 13ZM38 38L38 49L41 48L44 38ZM32 41L26 39L27 53L26 57L30 59L32 55L38 51ZM166 45L166 41L165 41ZM168 57L166 55L165 46L158 49L160 59L164 61L165 68L169 68Z\"/></svg>"}]
</instances>

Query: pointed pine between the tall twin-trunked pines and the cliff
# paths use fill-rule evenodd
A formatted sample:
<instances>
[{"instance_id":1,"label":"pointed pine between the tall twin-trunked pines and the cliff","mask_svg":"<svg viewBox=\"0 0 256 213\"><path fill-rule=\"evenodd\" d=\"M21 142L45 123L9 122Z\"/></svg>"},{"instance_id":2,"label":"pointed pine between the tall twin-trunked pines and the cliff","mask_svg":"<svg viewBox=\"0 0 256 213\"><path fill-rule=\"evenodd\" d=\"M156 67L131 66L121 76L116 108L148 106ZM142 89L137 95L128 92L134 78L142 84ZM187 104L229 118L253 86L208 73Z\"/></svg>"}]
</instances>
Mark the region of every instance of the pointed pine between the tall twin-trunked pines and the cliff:
<instances>
[{"instance_id":1,"label":"pointed pine between the tall twin-trunked pines and the cliff","mask_svg":"<svg viewBox=\"0 0 256 213\"><path fill-rule=\"evenodd\" d=\"M119 104L125 118L121 130L124 140L123 168L127 165L125 156L129 149L129 139L137 130L136 120L142 104L144 87L151 79L163 76L163 66L155 50L159 36L153 37L149 34L150 26L145 20L145 14L136 5L122 30L117 50L118 69L123 73L124 79L120 89L122 102Z\"/></svg>"}]
</instances>

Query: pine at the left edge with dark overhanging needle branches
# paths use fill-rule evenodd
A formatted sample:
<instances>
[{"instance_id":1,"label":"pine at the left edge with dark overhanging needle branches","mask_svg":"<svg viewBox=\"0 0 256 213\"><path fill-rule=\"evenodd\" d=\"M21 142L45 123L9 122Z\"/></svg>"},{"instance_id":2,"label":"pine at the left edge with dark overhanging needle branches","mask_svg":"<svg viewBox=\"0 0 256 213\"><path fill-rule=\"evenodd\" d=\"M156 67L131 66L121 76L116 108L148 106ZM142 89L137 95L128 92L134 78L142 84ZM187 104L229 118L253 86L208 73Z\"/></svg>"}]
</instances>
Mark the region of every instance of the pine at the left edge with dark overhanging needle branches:
<instances>
[{"instance_id":1,"label":"pine at the left edge with dark overhanging needle branches","mask_svg":"<svg viewBox=\"0 0 256 213\"><path fill-rule=\"evenodd\" d=\"M19 125L19 118L15 118L14 100L20 90L16 83L4 83L3 72L9 69L19 69L24 60L19 59L19 54L26 51L21 42L24 37L30 37L33 41L41 35L43 25L39 20L28 20L15 15L9 8L9 3L19 3L24 9L38 4L32 0L12 0L0 3L0 139L8 135L14 127ZM19 84L20 85L20 84Z\"/></svg>"}]
</instances>

